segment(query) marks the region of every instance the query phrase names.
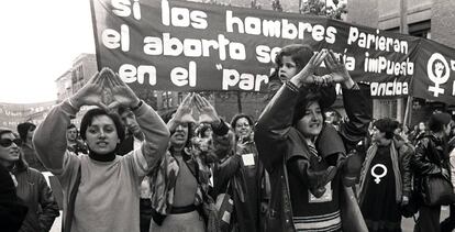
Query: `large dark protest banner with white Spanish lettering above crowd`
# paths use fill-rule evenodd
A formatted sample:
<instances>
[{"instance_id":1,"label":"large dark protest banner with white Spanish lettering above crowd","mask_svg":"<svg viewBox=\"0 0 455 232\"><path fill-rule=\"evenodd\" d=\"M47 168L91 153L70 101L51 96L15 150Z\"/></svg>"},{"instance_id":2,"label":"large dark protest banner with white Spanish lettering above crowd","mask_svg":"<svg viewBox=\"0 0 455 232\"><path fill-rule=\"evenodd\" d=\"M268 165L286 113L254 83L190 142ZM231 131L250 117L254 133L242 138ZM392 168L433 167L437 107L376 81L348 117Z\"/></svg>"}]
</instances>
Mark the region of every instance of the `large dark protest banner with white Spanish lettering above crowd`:
<instances>
[{"instance_id":1,"label":"large dark protest banner with white Spanish lettering above crowd","mask_svg":"<svg viewBox=\"0 0 455 232\"><path fill-rule=\"evenodd\" d=\"M280 47L302 43L333 49L354 80L370 84L374 98L412 93L454 101L454 49L423 38L320 16L188 1L91 0L91 9L98 67L118 71L133 89L264 92ZM448 65L431 80L430 53L439 49ZM432 60L432 68L440 67L441 56ZM429 89L435 82L435 91L444 89L437 97Z\"/></svg>"}]
</instances>

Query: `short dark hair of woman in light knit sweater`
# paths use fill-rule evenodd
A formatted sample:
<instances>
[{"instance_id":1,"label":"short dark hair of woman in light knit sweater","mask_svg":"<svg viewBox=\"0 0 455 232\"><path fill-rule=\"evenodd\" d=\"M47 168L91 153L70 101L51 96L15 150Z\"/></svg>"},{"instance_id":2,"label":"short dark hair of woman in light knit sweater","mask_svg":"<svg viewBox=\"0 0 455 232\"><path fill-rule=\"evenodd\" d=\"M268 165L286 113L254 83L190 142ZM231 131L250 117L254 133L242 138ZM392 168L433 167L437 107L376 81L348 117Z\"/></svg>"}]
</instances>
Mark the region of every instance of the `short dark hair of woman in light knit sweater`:
<instances>
[{"instance_id":1,"label":"short dark hair of woman in light knit sweater","mask_svg":"<svg viewBox=\"0 0 455 232\"><path fill-rule=\"evenodd\" d=\"M108 112L107 110L101 109L101 108L91 109L87 111L87 113L84 115L80 122L80 137L82 137L82 140L87 139L86 131L88 126L91 125L93 118L99 117L99 115L107 115L114 122L115 129L116 129L116 135L119 136L120 142L122 142L125 139L125 130L122 125L122 121L120 120L119 114Z\"/></svg>"}]
</instances>

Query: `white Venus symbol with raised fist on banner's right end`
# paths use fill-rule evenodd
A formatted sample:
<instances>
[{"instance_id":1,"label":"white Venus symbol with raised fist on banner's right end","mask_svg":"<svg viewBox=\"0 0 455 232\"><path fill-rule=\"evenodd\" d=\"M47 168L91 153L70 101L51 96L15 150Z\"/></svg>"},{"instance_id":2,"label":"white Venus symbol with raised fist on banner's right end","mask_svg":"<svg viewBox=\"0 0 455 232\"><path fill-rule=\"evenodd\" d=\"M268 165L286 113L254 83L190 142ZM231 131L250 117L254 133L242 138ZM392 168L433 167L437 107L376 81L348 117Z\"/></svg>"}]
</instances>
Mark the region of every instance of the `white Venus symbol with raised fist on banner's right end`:
<instances>
[{"instance_id":1,"label":"white Venus symbol with raised fist on banner's right end","mask_svg":"<svg viewBox=\"0 0 455 232\"><path fill-rule=\"evenodd\" d=\"M429 91L432 91L434 97L439 97L444 93L444 89L440 86L447 82L448 77L451 76L451 69L447 60L443 55L441 55L441 53L434 53L430 57L426 65L426 73L430 80L434 82L434 86L429 87Z\"/></svg>"}]
</instances>

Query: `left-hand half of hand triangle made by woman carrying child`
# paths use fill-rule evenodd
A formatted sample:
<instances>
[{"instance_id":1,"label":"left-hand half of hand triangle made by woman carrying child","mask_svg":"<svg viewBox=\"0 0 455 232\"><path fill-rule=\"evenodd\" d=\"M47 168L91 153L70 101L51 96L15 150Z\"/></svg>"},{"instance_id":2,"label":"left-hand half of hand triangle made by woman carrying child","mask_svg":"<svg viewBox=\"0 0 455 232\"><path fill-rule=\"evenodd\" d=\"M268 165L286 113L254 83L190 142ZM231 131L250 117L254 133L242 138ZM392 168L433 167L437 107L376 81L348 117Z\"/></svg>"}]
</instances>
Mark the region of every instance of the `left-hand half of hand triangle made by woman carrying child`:
<instances>
[{"instance_id":1,"label":"left-hand half of hand triangle made by woman carrying child","mask_svg":"<svg viewBox=\"0 0 455 232\"><path fill-rule=\"evenodd\" d=\"M326 55L326 51L320 51L314 54L308 64L296 76L293 76L290 81L298 87L303 84L319 84L318 81L322 82L323 80L314 75L314 70L321 65Z\"/></svg>"}]
</instances>

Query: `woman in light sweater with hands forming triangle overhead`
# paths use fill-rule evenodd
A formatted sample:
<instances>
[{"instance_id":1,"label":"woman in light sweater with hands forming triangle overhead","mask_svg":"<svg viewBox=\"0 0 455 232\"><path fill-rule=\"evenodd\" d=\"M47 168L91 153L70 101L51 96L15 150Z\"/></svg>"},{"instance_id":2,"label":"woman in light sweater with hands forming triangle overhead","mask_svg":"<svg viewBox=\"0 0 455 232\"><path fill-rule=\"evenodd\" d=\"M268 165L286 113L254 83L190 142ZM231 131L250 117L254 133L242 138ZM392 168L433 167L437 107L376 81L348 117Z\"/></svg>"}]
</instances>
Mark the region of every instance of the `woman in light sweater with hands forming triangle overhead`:
<instances>
[{"instance_id":1,"label":"woman in light sweater with hands forming triangle overhead","mask_svg":"<svg viewBox=\"0 0 455 232\"><path fill-rule=\"evenodd\" d=\"M80 135L88 155L66 150L66 128L82 106ZM129 107L144 133L141 148L115 154L124 128L112 108ZM140 231L140 185L165 154L169 131L159 115L109 68L54 107L33 136L37 155L64 192L65 231Z\"/></svg>"}]
</instances>

